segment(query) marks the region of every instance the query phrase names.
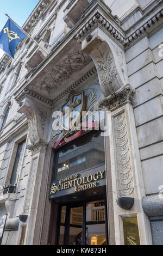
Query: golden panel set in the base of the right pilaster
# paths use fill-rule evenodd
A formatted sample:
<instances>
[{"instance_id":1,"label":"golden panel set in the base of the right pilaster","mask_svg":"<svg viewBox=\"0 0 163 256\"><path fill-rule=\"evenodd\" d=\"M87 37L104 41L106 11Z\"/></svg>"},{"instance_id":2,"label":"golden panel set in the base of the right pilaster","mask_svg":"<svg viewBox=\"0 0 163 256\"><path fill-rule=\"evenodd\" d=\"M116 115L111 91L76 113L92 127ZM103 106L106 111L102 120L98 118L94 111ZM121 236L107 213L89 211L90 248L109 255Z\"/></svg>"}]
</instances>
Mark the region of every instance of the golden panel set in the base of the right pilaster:
<instances>
[{"instance_id":1,"label":"golden panel set in the base of the right pilaster","mask_svg":"<svg viewBox=\"0 0 163 256\"><path fill-rule=\"evenodd\" d=\"M140 245L137 217L123 218L124 245Z\"/></svg>"}]
</instances>

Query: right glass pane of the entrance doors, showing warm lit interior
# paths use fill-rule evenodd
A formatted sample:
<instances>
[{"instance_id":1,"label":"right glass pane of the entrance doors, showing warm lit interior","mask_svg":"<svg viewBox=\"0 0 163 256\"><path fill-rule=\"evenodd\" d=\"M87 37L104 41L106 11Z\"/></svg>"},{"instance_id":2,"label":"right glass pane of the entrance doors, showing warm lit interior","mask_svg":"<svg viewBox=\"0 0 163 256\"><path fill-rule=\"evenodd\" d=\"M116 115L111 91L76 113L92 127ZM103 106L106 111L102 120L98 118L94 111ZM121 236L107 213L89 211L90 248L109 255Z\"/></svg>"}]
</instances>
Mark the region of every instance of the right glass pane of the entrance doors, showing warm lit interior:
<instances>
[{"instance_id":1,"label":"right glass pane of the entrance doors, showing warm lit interior","mask_svg":"<svg viewBox=\"0 0 163 256\"><path fill-rule=\"evenodd\" d=\"M104 201L86 204L86 243L106 245Z\"/></svg>"}]
</instances>

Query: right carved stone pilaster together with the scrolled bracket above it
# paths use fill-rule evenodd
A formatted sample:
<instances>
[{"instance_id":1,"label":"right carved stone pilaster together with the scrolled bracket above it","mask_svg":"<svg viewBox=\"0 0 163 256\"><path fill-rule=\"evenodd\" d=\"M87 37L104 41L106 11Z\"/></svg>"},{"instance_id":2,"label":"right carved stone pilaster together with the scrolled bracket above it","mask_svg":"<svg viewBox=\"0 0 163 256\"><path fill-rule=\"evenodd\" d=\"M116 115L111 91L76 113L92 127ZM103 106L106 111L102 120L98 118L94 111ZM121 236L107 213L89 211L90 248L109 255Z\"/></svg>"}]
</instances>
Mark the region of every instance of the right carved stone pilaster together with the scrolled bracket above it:
<instances>
[{"instance_id":1,"label":"right carved stone pilaster together with the scrolled bracket above it","mask_svg":"<svg viewBox=\"0 0 163 256\"><path fill-rule=\"evenodd\" d=\"M145 187L132 106L135 92L128 84L125 50L120 44L123 40L120 35L111 37L108 31L104 32L97 20L105 21L96 14L93 22L97 22L97 27L87 37L77 35L77 38L80 37L82 50L89 54L97 69L105 96L99 107L109 111L110 154L107 157L106 152L106 158L111 159L111 174L107 172L106 186L112 182L115 243L124 244L122 218L137 216L141 245L151 245L151 228L142 209ZM110 28L109 23L107 26ZM107 193L109 205L111 191L107 189ZM108 210L108 218L112 214Z\"/></svg>"}]
</instances>

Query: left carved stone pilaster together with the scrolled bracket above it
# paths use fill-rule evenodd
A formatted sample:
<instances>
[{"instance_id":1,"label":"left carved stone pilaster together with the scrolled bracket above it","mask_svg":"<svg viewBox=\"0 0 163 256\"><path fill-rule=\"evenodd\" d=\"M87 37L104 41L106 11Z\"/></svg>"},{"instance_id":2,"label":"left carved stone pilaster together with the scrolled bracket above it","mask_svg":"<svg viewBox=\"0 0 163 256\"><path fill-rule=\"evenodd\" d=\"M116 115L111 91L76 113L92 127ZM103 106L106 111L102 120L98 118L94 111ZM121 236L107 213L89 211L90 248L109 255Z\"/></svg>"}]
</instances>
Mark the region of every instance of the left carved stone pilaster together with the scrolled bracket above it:
<instances>
[{"instance_id":1,"label":"left carved stone pilaster together with the scrolled bracket above it","mask_svg":"<svg viewBox=\"0 0 163 256\"><path fill-rule=\"evenodd\" d=\"M29 139L31 142L30 145L27 145L27 148L31 151L32 155L22 214L28 215L24 245L33 245L42 170L49 139L48 130L50 129L49 118L51 117L51 110L26 95L20 102L18 112L26 114L28 118Z\"/></svg>"}]
</instances>

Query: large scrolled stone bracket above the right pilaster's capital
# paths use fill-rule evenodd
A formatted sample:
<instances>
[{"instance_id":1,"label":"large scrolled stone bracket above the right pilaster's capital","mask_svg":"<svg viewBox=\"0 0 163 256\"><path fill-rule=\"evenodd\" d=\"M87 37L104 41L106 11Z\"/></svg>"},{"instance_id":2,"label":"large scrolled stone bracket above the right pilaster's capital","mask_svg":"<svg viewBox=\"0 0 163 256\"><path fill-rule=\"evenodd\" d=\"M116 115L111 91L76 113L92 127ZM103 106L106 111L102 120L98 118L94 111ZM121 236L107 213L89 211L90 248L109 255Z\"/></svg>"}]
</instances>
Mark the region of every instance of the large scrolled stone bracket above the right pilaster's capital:
<instances>
[{"instance_id":1,"label":"large scrolled stone bracket above the right pilaster's capital","mask_svg":"<svg viewBox=\"0 0 163 256\"><path fill-rule=\"evenodd\" d=\"M95 63L99 83L105 97L128 83L124 51L99 28L82 42L82 50Z\"/></svg>"}]
</instances>

